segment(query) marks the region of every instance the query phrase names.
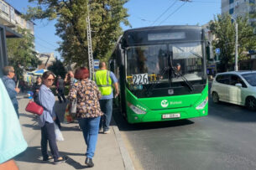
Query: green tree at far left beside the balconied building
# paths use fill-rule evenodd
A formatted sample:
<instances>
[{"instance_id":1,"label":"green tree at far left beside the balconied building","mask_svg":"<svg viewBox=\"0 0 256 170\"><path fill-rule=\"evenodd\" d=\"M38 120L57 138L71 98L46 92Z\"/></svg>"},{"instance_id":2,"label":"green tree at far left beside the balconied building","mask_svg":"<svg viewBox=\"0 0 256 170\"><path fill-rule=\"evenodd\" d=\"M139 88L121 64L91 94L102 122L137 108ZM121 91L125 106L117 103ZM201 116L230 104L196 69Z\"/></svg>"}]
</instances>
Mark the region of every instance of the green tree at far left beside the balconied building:
<instances>
[{"instance_id":1,"label":"green tree at far left beside the balconied building","mask_svg":"<svg viewBox=\"0 0 256 170\"><path fill-rule=\"evenodd\" d=\"M34 51L34 36L28 29L18 28L22 38L7 39L8 61L17 70L18 78L23 75L24 69L36 68L40 60Z\"/></svg>"}]
</instances>

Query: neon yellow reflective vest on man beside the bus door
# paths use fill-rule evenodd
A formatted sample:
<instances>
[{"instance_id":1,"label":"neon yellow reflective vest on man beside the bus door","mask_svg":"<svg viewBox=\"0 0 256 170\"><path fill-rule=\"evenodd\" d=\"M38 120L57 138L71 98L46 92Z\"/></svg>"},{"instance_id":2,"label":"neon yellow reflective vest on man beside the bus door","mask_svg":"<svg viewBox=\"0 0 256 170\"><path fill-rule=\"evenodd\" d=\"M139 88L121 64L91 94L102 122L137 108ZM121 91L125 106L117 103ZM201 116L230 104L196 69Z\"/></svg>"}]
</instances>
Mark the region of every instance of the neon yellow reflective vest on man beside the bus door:
<instances>
[{"instance_id":1,"label":"neon yellow reflective vest on man beside the bus door","mask_svg":"<svg viewBox=\"0 0 256 170\"><path fill-rule=\"evenodd\" d=\"M112 80L110 78L110 71L97 70L93 76L102 95L110 95L112 93Z\"/></svg>"}]
</instances>

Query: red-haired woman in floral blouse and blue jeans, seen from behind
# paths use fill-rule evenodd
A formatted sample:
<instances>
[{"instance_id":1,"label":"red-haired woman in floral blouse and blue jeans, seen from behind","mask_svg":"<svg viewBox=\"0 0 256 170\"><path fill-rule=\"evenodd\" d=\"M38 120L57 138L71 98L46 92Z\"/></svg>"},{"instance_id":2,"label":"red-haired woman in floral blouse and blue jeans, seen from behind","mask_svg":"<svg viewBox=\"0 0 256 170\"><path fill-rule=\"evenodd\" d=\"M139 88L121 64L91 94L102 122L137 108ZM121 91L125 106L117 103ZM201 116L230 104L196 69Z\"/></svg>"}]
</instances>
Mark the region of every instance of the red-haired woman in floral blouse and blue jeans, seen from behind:
<instances>
[{"instance_id":1,"label":"red-haired woman in floral blouse and blue jeans, seen from behind","mask_svg":"<svg viewBox=\"0 0 256 170\"><path fill-rule=\"evenodd\" d=\"M78 81L71 86L68 98L71 101L76 100L76 118L78 118L87 145L85 163L88 167L93 167L92 157L96 149L99 124L103 113L99 104L99 99L102 98L101 92L96 83L88 80L88 77L89 70L85 67L76 70L75 78Z\"/></svg>"}]
</instances>

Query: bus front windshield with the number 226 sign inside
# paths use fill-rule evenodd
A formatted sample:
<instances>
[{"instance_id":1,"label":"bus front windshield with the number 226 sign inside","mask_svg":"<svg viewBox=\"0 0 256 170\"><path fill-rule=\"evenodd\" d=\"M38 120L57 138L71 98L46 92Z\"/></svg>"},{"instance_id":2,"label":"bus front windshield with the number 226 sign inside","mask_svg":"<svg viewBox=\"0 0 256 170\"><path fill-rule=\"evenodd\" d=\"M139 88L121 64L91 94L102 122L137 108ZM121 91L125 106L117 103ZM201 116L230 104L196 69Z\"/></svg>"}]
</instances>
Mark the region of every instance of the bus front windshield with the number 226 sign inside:
<instances>
[{"instance_id":1,"label":"bus front windshield with the number 226 sign inside","mask_svg":"<svg viewBox=\"0 0 256 170\"><path fill-rule=\"evenodd\" d=\"M146 85L182 82L184 78L202 80L203 63L201 42L129 47L127 81L129 85Z\"/></svg>"}]
</instances>

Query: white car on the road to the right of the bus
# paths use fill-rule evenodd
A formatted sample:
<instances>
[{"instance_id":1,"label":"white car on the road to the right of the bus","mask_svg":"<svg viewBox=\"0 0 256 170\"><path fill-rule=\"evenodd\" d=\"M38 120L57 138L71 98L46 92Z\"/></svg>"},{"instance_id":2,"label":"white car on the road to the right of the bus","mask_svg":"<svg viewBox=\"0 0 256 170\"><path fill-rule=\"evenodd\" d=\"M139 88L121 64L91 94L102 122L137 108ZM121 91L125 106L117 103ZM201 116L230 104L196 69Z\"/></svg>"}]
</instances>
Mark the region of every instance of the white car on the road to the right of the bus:
<instances>
[{"instance_id":1,"label":"white car on the road to the right of the bus","mask_svg":"<svg viewBox=\"0 0 256 170\"><path fill-rule=\"evenodd\" d=\"M256 71L231 71L217 74L212 81L213 102L225 101L256 110Z\"/></svg>"}]
</instances>

